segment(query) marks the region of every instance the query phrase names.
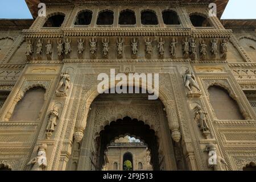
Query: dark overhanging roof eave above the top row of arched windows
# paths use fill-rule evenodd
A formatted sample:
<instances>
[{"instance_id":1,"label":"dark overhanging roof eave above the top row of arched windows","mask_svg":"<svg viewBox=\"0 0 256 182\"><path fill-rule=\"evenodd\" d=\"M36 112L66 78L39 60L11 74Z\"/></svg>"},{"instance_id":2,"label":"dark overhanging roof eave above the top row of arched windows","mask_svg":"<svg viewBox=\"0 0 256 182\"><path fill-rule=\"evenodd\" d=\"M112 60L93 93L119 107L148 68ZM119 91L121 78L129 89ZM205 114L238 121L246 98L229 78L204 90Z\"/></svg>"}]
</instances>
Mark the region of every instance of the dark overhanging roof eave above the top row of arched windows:
<instances>
[{"instance_id":1,"label":"dark overhanging roof eave above the top row of arched windows","mask_svg":"<svg viewBox=\"0 0 256 182\"><path fill-rule=\"evenodd\" d=\"M38 12L38 4L40 2L43 3L67 3L67 4L75 4L75 3L216 3L217 4L217 11L218 11L218 18L221 17L222 13L225 10L226 5L228 4L229 0L25 0L28 8L31 11L31 14L34 16L34 18L37 16Z\"/></svg>"}]
</instances>

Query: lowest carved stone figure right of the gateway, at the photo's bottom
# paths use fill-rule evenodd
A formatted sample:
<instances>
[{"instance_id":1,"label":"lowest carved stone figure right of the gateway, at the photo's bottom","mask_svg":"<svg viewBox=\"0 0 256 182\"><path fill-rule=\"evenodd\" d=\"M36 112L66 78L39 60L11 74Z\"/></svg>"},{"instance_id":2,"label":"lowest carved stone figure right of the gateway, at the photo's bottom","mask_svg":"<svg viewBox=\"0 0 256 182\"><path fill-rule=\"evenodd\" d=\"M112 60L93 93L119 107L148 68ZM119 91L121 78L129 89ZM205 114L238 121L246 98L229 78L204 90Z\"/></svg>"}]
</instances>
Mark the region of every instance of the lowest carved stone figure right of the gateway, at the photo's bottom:
<instances>
[{"instance_id":1,"label":"lowest carved stone figure right of the gateway, at the photo's bottom","mask_svg":"<svg viewBox=\"0 0 256 182\"><path fill-rule=\"evenodd\" d=\"M216 146L214 144L208 144L207 151L209 154L208 167L213 167L215 171L225 171L224 166L228 166L228 164L224 158L217 154Z\"/></svg>"}]
</instances>

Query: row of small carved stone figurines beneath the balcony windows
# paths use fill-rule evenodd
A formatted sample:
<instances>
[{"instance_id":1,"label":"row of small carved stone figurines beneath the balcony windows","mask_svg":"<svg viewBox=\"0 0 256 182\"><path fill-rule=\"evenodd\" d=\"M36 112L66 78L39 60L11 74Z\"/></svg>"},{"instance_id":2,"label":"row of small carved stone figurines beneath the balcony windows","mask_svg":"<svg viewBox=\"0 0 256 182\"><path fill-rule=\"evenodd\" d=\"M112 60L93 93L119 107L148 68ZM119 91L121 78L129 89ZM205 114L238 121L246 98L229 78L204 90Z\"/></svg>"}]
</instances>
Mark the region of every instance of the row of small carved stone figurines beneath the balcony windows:
<instances>
[{"instance_id":1,"label":"row of small carved stone figurines beneath the balcony windows","mask_svg":"<svg viewBox=\"0 0 256 182\"><path fill-rule=\"evenodd\" d=\"M97 52L97 39L96 38L90 38L89 40L90 42L90 53L92 53L93 55L96 54ZM117 39L117 55L118 56L122 56L123 54L123 38L118 38ZM79 39L77 40L78 46L77 46L77 52L79 54L82 54L82 52L84 52L84 40L83 39ZM146 40L144 41L145 43L145 51L147 53L147 55L151 55L152 53L152 40L150 38L146 38ZM171 44L170 44L170 53L172 58L176 58L177 56L177 38L172 38L171 40ZM63 48L63 44L64 44L64 48ZM159 38L158 39L158 52L159 52L159 56L163 57L164 55L164 39L163 38ZM195 42L195 39L191 38L185 38L183 40L183 55L184 58L189 58L191 57L192 59L195 59L196 57L196 53L197 53L197 44ZM219 52L219 47L218 47L218 40L217 39L213 39L211 41L211 49L210 49L210 53L212 53L213 57L216 57L216 55ZM226 52L228 52L228 47L227 47L227 41L226 39L223 39L221 41L221 53L224 55ZM102 38L102 52L104 56L108 56L109 53L109 38ZM205 40L201 40L200 41L200 55L203 59L206 58L207 56L207 44L205 43ZM51 55L52 53L52 41L51 40L47 40L47 44L46 44L46 54L47 55ZM57 41L57 54L59 56L63 55L63 50L65 55L68 55L71 51L71 40L69 38L63 40L58 40ZM43 51L43 42L41 39L39 39L36 42L36 54L40 55ZM26 55L30 56L33 53L33 46L31 43L31 40L27 41L27 50L26 50ZM137 55L138 53L138 39L137 38L133 38L131 40L131 52L133 55ZM223 56L222 56L223 57Z\"/></svg>"}]
</instances>

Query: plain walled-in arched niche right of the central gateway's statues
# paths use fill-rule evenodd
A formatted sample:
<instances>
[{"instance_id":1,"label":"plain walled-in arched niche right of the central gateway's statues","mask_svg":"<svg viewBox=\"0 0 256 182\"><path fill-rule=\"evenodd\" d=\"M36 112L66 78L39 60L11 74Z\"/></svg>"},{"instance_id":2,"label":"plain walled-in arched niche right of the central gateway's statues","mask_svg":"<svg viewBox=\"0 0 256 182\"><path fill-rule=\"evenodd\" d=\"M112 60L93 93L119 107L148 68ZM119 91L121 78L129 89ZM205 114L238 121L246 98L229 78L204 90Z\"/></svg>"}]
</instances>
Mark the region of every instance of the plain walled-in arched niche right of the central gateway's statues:
<instances>
[{"instance_id":1,"label":"plain walled-in arched niche right of the central gateway's statues","mask_svg":"<svg viewBox=\"0 0 256 182\"><path fill-rule=\"evenodd\" d=\"M221 120L242 120L243 115L237 102L229 96L229 92L221 86L213 85L208 88L210 104L216 117Z\"/></svg>"}]
</instances>

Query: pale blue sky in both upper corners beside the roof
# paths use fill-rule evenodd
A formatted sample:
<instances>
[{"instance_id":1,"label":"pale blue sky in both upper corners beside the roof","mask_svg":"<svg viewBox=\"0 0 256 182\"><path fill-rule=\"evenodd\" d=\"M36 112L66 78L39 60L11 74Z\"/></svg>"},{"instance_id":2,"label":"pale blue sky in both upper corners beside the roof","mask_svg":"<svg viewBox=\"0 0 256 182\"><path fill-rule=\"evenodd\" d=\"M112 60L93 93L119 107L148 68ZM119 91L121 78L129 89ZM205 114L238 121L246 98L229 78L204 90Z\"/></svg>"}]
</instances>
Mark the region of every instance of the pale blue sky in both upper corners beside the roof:
<instances>
[{"instance_id":1,"label":"pale blue sky in both upper corners beside the roof","mask_svg":"<svg viewBox=\"0 0 256 182\"><path fill-rule=\"evenodd\" d=\"M222 19L256 19L256 0L229 0ZM0 0L0 19L32 18L24 0Z\"/></svg>"}]
</instances>

